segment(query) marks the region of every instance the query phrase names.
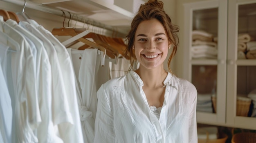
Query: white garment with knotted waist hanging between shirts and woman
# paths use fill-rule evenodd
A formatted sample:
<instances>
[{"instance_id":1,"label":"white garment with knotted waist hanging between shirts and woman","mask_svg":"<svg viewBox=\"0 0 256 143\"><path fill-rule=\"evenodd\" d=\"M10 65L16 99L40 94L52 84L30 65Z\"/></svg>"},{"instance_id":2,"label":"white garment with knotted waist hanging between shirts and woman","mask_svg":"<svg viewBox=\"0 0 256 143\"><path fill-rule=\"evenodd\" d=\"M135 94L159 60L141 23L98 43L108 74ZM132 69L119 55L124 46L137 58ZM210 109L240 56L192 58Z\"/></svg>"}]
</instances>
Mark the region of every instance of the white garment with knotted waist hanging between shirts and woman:
<instances>
[{"instance_id":1,"label":"white garment with knotted waist hanging between shirts and woman","mask_svg":"<svg viewBox=\"0 0 256 143\"><path fill-rule=\"evenodd\" d=\"M85 143L94 141L94 122L97 110L96 76L101 63L98 49L84 51L67 48L72 59L78 86L78 105Z\"/></svg>"}]
</instances>

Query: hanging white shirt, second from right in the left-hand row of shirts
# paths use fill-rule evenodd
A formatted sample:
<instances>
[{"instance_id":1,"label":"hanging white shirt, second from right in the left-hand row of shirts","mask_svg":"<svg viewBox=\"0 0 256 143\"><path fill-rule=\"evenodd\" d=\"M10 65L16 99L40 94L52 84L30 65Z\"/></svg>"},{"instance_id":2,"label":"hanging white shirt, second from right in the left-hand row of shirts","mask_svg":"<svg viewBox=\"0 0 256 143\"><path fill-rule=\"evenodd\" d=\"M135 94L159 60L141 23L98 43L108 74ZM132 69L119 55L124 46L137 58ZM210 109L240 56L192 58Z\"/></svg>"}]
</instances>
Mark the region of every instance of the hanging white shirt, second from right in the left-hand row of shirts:
<instances>
[{"instance_id":1,"label":"hanging white shirt, second from right in the left-hand row of shirts","mask_svg":"<svg viewBox=\"0 0 256 143\"><path fill-rule=\"evenodd\" d=\"M63 71L61 70L57 53L53 44L40 31L38 31L38 29L36 29L28 22L22 22L22 24L28 31L42 40L49 58L49 62L52 68L52 118L54 125L58 125L59 128L60 126L67 126L67 124L74 124L67 101L68 98L62 76ZM55 134L57 135L59 135L58 128L55 127ZM64 138L61 135L59 136L61 139Z\"/></svg>"}]
</instances>

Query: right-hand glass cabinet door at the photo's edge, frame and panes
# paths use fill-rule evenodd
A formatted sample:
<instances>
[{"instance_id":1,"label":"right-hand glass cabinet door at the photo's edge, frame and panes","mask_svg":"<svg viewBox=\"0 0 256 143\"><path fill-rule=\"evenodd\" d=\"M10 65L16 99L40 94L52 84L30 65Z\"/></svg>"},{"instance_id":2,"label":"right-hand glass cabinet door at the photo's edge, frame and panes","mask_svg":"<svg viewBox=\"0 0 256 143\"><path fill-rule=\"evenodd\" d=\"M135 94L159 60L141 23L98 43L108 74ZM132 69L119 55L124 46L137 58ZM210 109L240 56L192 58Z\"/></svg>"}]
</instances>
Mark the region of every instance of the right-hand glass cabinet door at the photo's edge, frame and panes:
<instances>
[{"instance_id":1,"label":"right-hand glass cabinet door at the photo's edge, frame and panes","mask_svg":"<svg viewBox=\"0 0 256 143\"><path fill-rule=\"evenodd\" d=\"M229 0L229 25L227 123L255 130L256 0Z\"/></svg>"}]
</instances>

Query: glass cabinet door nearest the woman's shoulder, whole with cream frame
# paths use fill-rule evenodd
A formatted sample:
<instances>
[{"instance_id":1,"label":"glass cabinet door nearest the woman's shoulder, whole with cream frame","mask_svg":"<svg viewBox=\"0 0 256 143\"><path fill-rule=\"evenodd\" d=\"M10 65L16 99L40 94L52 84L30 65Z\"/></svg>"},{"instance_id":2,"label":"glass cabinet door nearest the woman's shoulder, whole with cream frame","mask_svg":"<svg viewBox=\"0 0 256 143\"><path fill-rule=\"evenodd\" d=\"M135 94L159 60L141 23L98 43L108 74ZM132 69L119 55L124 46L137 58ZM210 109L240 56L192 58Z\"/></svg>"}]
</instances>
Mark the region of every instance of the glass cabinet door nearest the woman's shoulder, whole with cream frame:
<instances>
[{"instance_id":1,"label":"glass cabinet door nearest the woman's shoulder, whole with cream frame","mask_svg":"<svg viewBox=\"0 0 256 143\"><path fill-rule=\"evenodd\" d=\"M184 77L197 88L198 123L224 124L226 110L227 0L184 5Z\"/></svg>"}]
</instances>

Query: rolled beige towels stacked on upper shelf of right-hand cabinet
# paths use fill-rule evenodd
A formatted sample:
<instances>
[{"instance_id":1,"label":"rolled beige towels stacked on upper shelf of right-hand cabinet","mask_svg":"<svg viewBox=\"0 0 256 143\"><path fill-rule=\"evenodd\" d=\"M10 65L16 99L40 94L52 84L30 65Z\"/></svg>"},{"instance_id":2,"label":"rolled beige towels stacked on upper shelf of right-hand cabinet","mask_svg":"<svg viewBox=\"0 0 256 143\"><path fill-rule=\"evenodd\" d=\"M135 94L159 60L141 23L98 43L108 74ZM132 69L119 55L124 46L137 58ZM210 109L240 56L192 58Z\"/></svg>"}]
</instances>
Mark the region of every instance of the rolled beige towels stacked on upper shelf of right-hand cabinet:
<instances>
[{"instance_id":1,"label":"rolled beige towels stacked on upper shelf of right-hand cabinet","mask_svg":"<svg viewBox=\"0 0 256 143\"><path fill-rule=\"evenodd\" d=\"M237 51L238 59L254 59L256 58L256 41L248 33L238 34ZM249 46L249 47L248 47ZM247 56L248 53L248 56Z\"/></svg>"}]
</instances>

